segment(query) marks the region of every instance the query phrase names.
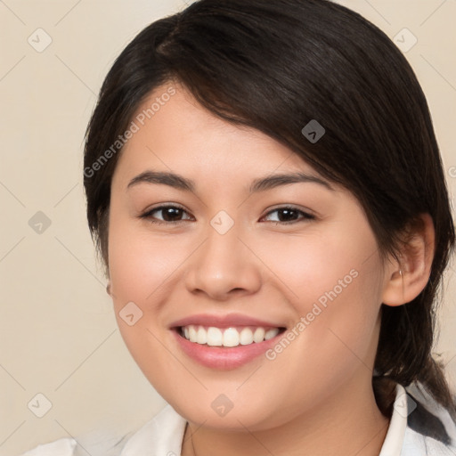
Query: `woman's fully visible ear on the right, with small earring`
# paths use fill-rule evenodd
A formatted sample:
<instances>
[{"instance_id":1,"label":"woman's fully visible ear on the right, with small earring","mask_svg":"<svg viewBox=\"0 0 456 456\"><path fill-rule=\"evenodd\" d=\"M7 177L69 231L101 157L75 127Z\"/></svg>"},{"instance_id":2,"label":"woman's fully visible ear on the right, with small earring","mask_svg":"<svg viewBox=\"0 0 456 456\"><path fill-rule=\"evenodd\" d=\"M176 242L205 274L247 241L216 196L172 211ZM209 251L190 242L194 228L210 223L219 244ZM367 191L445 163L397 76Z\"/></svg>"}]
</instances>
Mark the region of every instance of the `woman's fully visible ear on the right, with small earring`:
<instances>
[{"instance_id":1,"label":"woman's fully visible ear on the right, with small earring","mask_svg":"<svg viewBox=\"0 0 456 456\"><path fill-rule=\"evenodd\" d=\"M407 232L399 261L391 260L385 272L382 302L403 305L411 302L426 287L435 253L435 229L432 217L421 214Z\"/></svg>"}]
</instances>

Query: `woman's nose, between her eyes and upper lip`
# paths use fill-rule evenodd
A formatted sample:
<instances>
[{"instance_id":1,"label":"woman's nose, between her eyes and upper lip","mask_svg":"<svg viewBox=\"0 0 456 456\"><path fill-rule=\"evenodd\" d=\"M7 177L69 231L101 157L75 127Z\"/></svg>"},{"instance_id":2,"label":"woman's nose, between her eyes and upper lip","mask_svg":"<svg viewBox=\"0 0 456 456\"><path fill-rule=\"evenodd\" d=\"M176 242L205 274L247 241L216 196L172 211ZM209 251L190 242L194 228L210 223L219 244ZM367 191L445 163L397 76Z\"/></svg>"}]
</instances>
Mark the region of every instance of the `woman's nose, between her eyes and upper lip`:
<instances>
[{"instance_id":1,"label":"woman's nose, between her eyes and upper lip","mask_svg":"<svg viewBox=\"0 0 456 456\"><path fill-rule=\"evenodd\" d=\"M236 224L224 234L209 225L205 235L185 273L185 284L192 294L225 301L260 289L260 261L241 239Z\"/></svg>"}]
</instances>

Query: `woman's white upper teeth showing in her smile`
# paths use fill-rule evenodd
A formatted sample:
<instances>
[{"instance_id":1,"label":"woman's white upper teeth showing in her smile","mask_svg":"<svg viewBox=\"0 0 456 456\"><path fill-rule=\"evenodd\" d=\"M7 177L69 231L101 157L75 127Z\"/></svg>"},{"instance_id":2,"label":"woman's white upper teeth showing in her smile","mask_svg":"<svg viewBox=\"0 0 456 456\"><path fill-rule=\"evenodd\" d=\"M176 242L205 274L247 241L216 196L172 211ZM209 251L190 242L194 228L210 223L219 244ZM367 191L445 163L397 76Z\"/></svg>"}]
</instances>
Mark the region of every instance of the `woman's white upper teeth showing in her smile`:
<instances>
[{"instance_id":1,"label":"woman's white upper teeth showing in her smile","mask_svg":"<svg viewBox=\"0 0 456 456\"><path fill-rule=\"evenodd\" d=\"M265 330L257 327L253 330L243 328L226 328L224 330L210 326L208 329L203 326L189 325L182 328L186 339L197 344L208 344L208 346L248 346L254 342L263 342L275 338L279 334L279 328Z\"/></svg>"}]
</instances>

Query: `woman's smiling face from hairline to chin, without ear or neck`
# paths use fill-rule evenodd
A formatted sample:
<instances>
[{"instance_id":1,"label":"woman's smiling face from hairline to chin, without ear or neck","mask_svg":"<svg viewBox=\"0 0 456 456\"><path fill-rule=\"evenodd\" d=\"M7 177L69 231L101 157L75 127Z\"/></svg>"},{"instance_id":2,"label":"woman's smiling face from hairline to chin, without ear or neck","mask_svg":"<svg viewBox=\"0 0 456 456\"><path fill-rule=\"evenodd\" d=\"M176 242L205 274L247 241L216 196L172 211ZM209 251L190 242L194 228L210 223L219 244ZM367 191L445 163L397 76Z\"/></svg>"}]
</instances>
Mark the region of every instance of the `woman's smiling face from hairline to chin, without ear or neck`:
<instances>
[{"instance_id":1,"label":"woman's smiling face from hairline to chin, without ear or neck","mask_svg":"<svg viewBox=\"0 0 456 456\"><path fill-rule=\"evenodd\" d=\"M273 428L353 400L371 385L385 286L361 206L181 86L163 97L169 86L138 110L111 185L111 292L135 362L212 428Z\"/></svg>"}]
</instances>

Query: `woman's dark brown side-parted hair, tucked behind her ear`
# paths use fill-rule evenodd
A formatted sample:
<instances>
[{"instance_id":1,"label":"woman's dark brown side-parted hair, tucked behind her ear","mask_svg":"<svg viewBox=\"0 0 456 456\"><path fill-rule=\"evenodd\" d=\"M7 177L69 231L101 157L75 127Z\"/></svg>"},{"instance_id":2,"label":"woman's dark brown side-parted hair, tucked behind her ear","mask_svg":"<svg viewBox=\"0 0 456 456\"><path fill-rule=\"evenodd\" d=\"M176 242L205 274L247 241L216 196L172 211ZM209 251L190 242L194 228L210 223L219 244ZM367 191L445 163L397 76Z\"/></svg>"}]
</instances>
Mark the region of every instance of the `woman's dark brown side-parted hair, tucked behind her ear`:
<instances>
[{"instance_id":1,"label":"woman's dark brown side-parted hair, tucked behind her ear","mask_svg":"<svg viewBox=\"0 0 456 456\"><path fill-rule=\"evenodd\" d=\"M383 258L398 251L420 214L432 216L430 279L410 303L382 305L373 387L387 416L395 383L415 380L456 416L431 353L454 227L428 104L403 53L361 15L327 0L200 0L143 29L110 69L86 132L87 218L107 275L110 183L121 144L110 159L105 152L145 97L172 81L351 191ZM301 133L313 119L325 129L315 143Z\"/></svg>"}]
</instances>

